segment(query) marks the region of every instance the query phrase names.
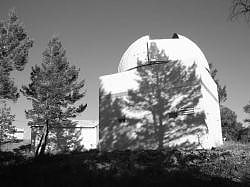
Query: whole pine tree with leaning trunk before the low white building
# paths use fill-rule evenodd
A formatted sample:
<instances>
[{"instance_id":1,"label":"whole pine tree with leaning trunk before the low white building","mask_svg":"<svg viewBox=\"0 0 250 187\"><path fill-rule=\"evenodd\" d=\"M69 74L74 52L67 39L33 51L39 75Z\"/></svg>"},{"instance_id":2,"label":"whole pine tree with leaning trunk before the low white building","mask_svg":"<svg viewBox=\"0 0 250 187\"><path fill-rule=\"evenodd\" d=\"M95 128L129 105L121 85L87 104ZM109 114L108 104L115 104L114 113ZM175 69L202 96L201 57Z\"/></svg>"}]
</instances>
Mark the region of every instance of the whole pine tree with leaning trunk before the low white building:
<instances>
[{"instance_id":1,"label":"whole pine tree with leaning trunk before the low white building","mask_svg":"<svg viewBox=\"0 0 250 187\"><path fill-rule=\"evenodd\" d=\"M21 90L32 100L32 109L26 111L26 117L31 119L28 125L43 127L36 156L45 153L52 128L72 126L70 118L87 106L75 106L85 95L85 83L78 81L80 69L70 65L61 41L54 37L42 55L41 65L32 67L31 83Z\"/></svg>"}]
</instances>

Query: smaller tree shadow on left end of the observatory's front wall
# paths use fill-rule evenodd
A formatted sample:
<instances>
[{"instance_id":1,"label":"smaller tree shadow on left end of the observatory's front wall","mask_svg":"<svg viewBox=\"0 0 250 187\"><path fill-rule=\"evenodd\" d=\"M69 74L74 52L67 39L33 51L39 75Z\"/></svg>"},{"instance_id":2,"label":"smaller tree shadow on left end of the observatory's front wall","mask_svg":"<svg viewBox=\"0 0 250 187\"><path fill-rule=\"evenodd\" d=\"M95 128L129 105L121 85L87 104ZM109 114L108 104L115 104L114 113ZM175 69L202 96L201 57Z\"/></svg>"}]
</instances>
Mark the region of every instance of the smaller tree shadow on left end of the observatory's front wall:
<instances>
[{"instance_id":1,"label":"smaller tree shadow on left end of the observatory's front wall","mask_svg":"<svg viewBox=\"0 0 250 187\"><path fill-rule=\"evenodd\" d=\"M101 87L99 92L99 132L100 147L102 150L127 149L134 142L130 138L133 126L126 125L122 109L125 103L121 98L113 98L105 93ZM130 124L136 124L139 120L131 119Z\"/></svg>"}]
</instances>

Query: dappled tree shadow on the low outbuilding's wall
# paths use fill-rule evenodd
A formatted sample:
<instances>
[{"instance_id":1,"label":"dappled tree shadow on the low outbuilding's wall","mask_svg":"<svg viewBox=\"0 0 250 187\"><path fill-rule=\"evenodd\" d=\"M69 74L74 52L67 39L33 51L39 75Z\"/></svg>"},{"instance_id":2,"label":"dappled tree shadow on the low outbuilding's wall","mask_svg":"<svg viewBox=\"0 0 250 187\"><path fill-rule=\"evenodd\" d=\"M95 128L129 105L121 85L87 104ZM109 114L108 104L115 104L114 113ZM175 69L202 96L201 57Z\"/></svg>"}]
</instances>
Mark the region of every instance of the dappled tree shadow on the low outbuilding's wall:
<instances>
[{"instance_id":1,"label":"dappled tree shadow on the low outbuilding's wall","mask_svg":"<svg viewBox=\"0 0 250 187\"><path fill-rule=\"evenodd\" d=\"M36 151L39 140L42 137L42 126L33 126L31 131L32 151ZM82 150L81 128L77 127L76 122L70 120L50 127L48 135L47 153L69 152Z\"/></svg>"}]
</instances>

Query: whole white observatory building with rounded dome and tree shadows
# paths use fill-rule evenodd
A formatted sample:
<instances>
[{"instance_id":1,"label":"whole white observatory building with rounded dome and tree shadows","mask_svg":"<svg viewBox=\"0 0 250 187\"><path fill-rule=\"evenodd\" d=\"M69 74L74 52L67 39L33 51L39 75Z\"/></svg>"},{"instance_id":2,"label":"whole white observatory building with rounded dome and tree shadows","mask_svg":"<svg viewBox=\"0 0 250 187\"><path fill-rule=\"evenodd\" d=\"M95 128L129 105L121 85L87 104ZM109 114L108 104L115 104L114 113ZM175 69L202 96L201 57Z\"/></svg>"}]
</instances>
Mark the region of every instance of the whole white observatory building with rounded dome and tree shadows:
<instances>
[{"instance_id":1,"label":"whole white observatory building with rounded dome and tree shadows","mask_svg":"<svg viewBox=\"0 0 250 187\"><path fill-rule=\"evenodd\" d=\"M123 54L118 72L99 79L102 150L222 144L217 85L188 38L141 37Z\"/></svg>"}]
</instances>

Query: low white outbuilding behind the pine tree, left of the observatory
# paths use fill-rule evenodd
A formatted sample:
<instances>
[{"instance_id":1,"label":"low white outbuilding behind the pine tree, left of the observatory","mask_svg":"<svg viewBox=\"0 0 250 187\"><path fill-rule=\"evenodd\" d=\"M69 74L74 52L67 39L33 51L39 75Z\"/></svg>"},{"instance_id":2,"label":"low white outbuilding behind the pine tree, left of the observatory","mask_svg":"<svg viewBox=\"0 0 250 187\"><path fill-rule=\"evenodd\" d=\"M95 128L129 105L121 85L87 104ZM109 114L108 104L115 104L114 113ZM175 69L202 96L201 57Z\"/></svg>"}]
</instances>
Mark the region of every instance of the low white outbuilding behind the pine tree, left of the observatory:
<instances>
[{"instance_id":1,"label":"low white outbuilding behind the pine tree, left of the observatory","mask_svg":"<svg viewBox=\"0 0 250 187\"><path fill-rule=\"evenodd\" d=\"M98 146L97 120L72 120L73 126L51 126L47 152L57 153L72 150L90 150ZM31 127L31 150L35 152L41 139L43 126Z\"/></svg>"}]
</instances>

